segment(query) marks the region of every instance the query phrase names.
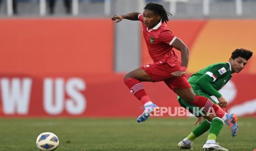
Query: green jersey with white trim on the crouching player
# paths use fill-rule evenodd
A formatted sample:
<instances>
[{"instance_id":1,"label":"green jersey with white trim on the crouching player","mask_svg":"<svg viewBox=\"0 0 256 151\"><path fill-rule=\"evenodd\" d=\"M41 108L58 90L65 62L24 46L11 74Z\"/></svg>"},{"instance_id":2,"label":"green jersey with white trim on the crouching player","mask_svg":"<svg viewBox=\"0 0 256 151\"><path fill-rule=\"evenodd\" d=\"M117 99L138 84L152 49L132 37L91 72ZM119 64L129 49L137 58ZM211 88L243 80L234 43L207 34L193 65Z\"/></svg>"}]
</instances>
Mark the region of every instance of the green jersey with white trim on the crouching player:
<instances>
[{"instance_id":1,"label":"green jersey with white trim on the crouching player","mask_svg":"<svg viewBox=\"0 0 256 151\"><path fill-rule=\"evenodd\" d=\"M208 94L209 96L221 97L218 92L232 77L231 65L226 63L215 63L201 69L189 79L195 94Z\"/></svg>"}]
</instances>

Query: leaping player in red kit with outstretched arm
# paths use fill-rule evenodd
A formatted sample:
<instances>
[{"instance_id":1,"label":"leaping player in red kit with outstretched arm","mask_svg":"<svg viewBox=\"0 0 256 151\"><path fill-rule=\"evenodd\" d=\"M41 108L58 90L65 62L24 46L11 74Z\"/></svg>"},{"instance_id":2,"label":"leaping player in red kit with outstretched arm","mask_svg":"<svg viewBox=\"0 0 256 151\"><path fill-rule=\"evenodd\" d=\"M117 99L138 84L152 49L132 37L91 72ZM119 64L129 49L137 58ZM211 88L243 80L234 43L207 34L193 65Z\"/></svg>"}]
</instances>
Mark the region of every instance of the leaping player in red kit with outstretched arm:
<instances>
[{"instance_id":1,"label":"leaping player in red kit with outstretched arm","mask_svg":"<svg viewBox=\"0 0 256 151\"><path fill-rule=\"evenodd\" d=\"M129 13L126 15L115 15L112 20L116 22L122 19L139 20L143 25L143 35L149 54L154 61L150 65L142 66L124 75L124 84L130 92L144 105L144 112L138 117L137 122L141 123L150 117L150 113L159 110L156 104L152 103L144 90L141 82L165 82L178 96L190 104L198 107L205 107L206 112L214 109L217 117L225 120L233 120L226 116L220 107L226 107L225 98L220 98L219 105L212 103L206 97L194 94L185 71L188 66L189 50L181 39L176 37L166 26L168 13L160 4L148 3L143 14ZM175 54L173 48L181 51L181 61Z\"/></svg>"}]
</instances>

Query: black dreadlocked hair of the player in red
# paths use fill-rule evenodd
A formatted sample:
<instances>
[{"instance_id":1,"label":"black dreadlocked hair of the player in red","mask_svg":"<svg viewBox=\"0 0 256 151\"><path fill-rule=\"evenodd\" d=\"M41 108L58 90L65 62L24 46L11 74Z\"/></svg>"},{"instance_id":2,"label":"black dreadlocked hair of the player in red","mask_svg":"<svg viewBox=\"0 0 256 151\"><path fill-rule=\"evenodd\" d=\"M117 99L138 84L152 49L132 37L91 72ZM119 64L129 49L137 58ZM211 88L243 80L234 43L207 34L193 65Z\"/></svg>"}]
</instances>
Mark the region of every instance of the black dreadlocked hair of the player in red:
<instances>
[{"instance_id":1,"label":"black dreadlocked hair of the player in red","mask_svg":"<svg viewBox=\"0 0 256 151\"><path fill-rule=\"evenodd\" d=\"M169 14L172 15L171 13L168 13L162 5L156 4L156 3L148 3L144 7L144 9L152 10L154 11L154 13L159 14L162 18L162 22L165 22L165 23L169 21L168 19Z\"/></svg>"}]
</instances>

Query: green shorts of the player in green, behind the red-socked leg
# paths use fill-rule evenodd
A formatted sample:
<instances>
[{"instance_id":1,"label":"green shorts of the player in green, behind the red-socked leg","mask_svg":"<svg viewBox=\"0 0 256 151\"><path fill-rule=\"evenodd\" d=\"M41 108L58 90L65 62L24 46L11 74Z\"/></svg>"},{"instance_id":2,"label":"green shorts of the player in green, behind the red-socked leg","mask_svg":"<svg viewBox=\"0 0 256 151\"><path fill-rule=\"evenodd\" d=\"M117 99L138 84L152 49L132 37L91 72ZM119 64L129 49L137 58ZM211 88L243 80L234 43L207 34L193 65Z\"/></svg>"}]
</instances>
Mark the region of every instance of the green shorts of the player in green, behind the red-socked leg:
<instances>
[{"instance_id":1,"label":"green shorts of the player in green, behind the red-socked leg","mask_svg":"<svg viewBox=\"0 0 256 151\"><path fill-rule=\"evenodd\" d=\"M197 95L207 97L207 98L209 98L211 101L213 101L215 104L218 104L216 101L213 100L213 98L211 98L211 97L210 97L209 95L207 95L207 94L200 93L200 94L197 94ZM179 104L181 104L182 107L188 109L188 111L189 111L190 113L192 113L193 115L195 115L195 117L201 117L201 116L204 116L204 115L205 115L202 108L187 103L186 101L184 101L184 100L183 100L181 97L179 97L179 96L177 97L177 99L178 99Z\"/></svg>"}]
</instances>

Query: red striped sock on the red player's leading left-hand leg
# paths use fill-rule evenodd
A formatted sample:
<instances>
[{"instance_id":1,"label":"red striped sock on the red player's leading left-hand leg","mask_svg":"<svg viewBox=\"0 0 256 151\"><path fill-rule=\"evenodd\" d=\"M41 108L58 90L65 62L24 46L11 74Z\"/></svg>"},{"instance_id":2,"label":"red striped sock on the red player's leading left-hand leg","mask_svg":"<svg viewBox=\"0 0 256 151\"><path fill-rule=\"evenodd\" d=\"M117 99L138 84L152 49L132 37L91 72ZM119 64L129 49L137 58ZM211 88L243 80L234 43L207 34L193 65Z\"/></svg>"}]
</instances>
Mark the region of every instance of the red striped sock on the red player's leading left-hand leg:
<instances>
[{"instance_id":1,"label":"red striped sock on the red player's leading left-hand leg","mask_svg":"<svg viewBox=\"0 0 256 151\"><path fill-rule=\"evenodd\" d=\"M130 90L130 93L133 94L135 97L138 98L138 100L141 101L141 103L145 104L150 101L150 98L148 95L146 95L144 86L142 83L134 78L127 78L124 79L124 84L127 85L127 87Z\"/></svg>"}]
</instances>

